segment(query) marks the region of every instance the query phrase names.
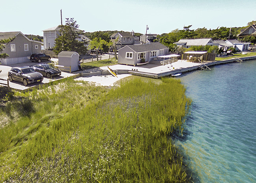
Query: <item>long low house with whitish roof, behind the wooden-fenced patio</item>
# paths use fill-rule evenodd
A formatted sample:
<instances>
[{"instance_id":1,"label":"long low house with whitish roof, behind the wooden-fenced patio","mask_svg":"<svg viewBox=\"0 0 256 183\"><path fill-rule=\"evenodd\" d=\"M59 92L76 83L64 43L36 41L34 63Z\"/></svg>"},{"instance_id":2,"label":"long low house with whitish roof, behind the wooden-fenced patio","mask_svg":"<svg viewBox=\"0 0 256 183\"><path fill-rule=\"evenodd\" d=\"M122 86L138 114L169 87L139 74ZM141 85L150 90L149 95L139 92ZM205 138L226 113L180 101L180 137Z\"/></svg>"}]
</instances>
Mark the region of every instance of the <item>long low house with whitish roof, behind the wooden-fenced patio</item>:
<instances>
[{"instance_id":1,"label":"long low house with whitish roof, behind the wooden-fenced patio","mask_svg":"<svg viewBox=\"0 0 256 183\"><path fill-rule=\"evenodd\" d=\"M211 38L206 39L180 39L178 42L174 43L177 46L190 48L192 46L213 46L213 40Z\"/></svg>"}]
</instances>

